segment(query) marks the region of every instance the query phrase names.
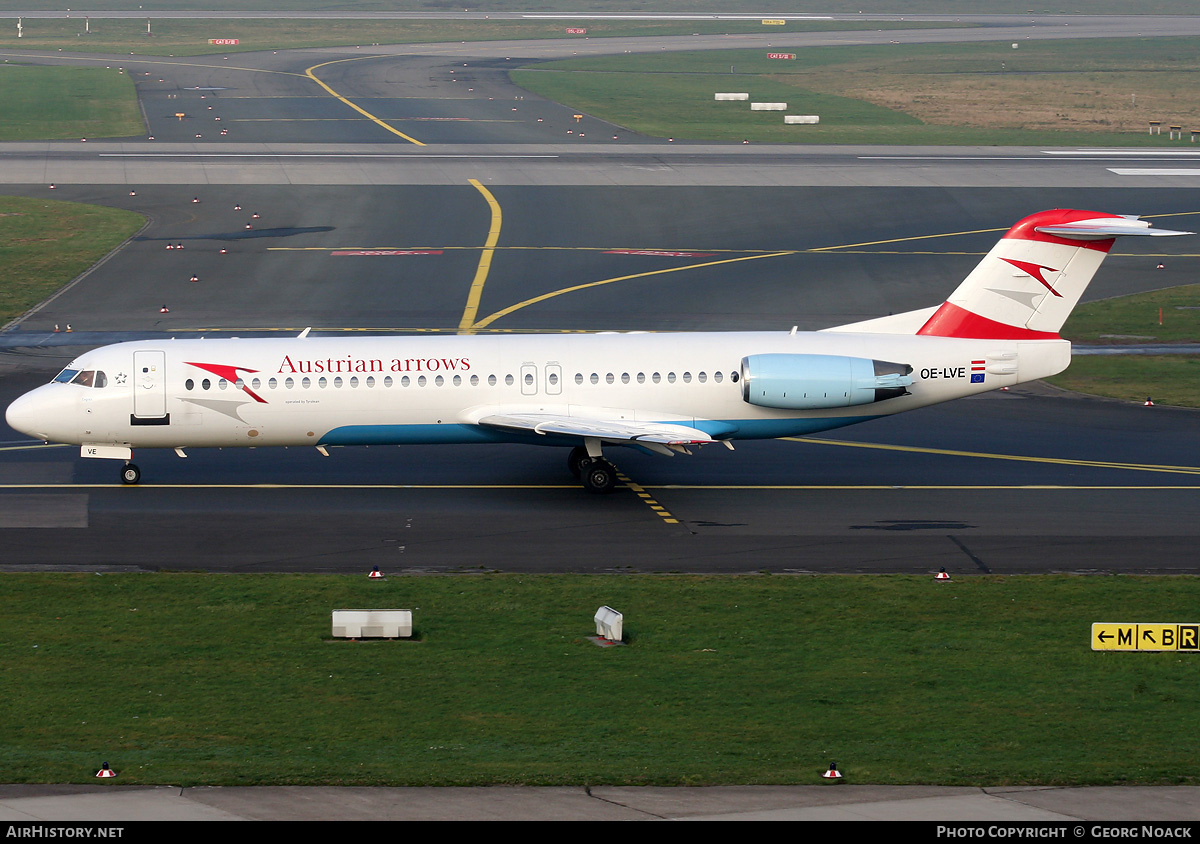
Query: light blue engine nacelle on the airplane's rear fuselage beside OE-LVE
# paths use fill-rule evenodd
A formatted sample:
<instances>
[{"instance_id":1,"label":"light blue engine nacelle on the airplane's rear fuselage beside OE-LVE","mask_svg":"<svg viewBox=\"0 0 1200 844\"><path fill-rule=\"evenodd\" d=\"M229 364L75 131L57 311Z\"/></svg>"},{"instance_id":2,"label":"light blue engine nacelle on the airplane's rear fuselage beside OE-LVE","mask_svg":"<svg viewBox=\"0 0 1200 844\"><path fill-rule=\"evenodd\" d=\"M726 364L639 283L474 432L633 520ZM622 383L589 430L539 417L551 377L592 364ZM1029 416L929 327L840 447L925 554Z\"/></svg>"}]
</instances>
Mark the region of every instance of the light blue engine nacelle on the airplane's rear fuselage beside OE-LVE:
<instances>
[{"instance_id":1,"label":"light blue engine nacelle on the airplane's rear fuselage beside OE-LVE","mask_svg":"<svg viewBox=\"0 0 1200 844\"><path fill-rule=\"evenodd\" d=\"M912 366L838 354L751 354L742 359L742 397L791 411L851 407L908 395Z\"/></svg>"}]
</instances>

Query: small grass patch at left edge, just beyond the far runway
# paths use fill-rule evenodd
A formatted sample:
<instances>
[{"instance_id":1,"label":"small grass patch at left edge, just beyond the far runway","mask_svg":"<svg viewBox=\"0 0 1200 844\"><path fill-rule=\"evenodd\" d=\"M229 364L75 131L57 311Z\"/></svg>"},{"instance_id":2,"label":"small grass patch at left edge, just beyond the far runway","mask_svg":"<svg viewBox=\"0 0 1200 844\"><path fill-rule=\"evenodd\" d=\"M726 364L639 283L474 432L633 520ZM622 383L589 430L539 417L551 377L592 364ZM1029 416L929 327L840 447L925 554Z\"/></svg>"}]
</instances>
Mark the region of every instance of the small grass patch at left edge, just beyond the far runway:
<instances>
[{"instance_id":1,"label":"small grass patch at left edge, just beyond the far runway","mask_svg":"<svg viewBox=\"0 0 1200 844\"><path fill-rule=\"evenodd\" d=\"M144 137L138 95L115 67L0 65L0 140Z\"/></svg>"}]
</instances>

